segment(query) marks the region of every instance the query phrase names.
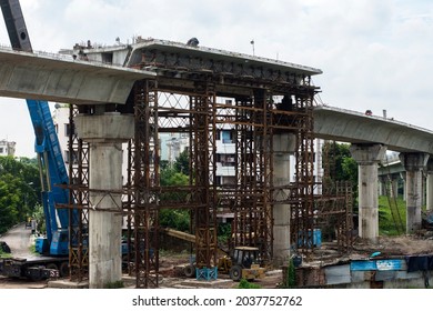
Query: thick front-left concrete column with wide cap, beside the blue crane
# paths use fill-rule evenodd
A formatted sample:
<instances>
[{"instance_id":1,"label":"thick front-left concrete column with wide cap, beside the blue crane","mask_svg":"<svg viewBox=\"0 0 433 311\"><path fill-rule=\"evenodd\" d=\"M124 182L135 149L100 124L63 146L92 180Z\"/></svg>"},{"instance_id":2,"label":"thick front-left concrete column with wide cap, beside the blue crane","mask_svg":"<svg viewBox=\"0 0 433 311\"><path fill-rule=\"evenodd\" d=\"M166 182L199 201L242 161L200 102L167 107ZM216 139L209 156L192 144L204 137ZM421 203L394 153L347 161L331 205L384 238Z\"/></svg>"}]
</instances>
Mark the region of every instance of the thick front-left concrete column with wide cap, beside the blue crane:
<instances>
[{"instance_id":1,"label":"thick front-left concrete column with wide cap, beside the blue crane","mask_svg":"<svg viewBox=\"0 0 433 311\"><path fill-rule=\"evenodd\" d=\"M74 122L78 136L90 143L89 288L101 289L122 279L122 142L132 138L134 120L110 112L79 114Z\"/></svg>"}]
</instances>

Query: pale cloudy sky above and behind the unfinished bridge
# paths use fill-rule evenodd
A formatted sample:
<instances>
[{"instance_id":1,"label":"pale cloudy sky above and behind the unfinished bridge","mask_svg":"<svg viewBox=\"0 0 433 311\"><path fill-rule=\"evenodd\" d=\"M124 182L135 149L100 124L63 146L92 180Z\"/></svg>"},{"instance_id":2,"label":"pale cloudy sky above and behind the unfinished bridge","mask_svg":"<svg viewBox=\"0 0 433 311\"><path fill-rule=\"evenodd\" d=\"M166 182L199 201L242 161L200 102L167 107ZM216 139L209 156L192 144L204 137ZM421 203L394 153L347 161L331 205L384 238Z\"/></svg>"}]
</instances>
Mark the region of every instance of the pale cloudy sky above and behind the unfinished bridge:
<instances>
[{"instance_id":1,"label":"pale cloudy sky above and behind the unfinished bridge","mask_svg":"<svg viewBox=\"0 0 433 311\"><path fill-rule=\"evenodd\" d=\"M321 69L323 103L370 109L433 130L431 0L21 0L33 50L133 36L280 59ZM9 44L0 22L0 44ZM24 100L0 98L0 139L34 157Z\"/></svg>"}]
</instances>

